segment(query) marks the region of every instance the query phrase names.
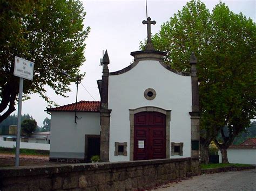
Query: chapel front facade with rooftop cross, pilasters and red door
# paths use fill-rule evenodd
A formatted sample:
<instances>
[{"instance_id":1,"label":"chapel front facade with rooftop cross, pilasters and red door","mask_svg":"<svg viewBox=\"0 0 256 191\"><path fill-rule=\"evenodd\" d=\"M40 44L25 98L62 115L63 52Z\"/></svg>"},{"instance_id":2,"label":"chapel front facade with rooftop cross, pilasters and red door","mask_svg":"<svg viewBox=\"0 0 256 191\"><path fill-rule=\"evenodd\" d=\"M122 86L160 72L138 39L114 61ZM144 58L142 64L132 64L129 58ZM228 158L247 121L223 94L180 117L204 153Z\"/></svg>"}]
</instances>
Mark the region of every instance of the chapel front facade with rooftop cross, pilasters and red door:
<instances>
[{"instance_id":1,"label":"chapel front facade with rooftop cross, pilasters and red door","mask_svg":"<svg viewBox=\"0 0 256 191\"><path fill-rule=\"evenodd\" d=\"M163 62L165 53L151 43L149 17L145 51L132 52L134 62L109 72L103 58L98 81L100 158L103 161L199 157L199 99L196 57L191 73L178 72Z\"/></svg>"}]
</instances>

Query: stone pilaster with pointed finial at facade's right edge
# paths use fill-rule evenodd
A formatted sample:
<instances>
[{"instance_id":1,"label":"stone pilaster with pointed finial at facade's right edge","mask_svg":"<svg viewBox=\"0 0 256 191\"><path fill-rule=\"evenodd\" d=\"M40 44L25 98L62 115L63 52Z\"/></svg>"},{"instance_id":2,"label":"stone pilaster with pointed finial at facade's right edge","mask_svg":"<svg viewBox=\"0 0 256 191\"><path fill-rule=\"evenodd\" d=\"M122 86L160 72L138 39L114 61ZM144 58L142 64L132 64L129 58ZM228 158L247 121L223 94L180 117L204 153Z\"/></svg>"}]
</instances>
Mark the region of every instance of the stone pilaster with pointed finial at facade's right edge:
<instances>
[{"instance_id":1,"label":"stone pilaster with pointed finial at facade's right edge","mask_svg":"<svg viewBox=\"0 0 256 191\"><path fill-rule=\"evenodd\" d=\"M191 116L191 157L199 157L199 94L198 94L198 77L197 77L197 58L192 52L190 56L191 65L191 87L192 87L192 112Z\"/></svg>"}]
</instances>

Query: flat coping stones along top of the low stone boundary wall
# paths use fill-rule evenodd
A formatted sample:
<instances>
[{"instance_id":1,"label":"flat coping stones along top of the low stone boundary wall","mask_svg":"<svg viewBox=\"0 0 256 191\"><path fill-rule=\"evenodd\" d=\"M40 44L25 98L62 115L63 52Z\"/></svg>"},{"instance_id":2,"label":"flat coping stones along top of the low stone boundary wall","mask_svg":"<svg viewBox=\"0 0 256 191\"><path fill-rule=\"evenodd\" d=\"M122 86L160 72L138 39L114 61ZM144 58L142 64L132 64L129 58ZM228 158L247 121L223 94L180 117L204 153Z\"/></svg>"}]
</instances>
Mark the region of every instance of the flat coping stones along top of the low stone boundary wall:
<instances>
[{"instance_id":1,"label":"flat coping stones along top of the low stone boundary wall","mask_svg":"<svg viewBox=\"0 0 256 191\"><path fill-rule=\"evenodd\" d=\"M170 162L199 160L199 158L178 158L178 159L157 159L157 160L140 160L126 162L96 162L80 164L56 164L47 166L19 166L19 167L0 167L0 178L13 176L32 176L45 175L78 171L95 171L98 169L127 168L146 165L161 165Z\"/></svg>"}]
</instances>

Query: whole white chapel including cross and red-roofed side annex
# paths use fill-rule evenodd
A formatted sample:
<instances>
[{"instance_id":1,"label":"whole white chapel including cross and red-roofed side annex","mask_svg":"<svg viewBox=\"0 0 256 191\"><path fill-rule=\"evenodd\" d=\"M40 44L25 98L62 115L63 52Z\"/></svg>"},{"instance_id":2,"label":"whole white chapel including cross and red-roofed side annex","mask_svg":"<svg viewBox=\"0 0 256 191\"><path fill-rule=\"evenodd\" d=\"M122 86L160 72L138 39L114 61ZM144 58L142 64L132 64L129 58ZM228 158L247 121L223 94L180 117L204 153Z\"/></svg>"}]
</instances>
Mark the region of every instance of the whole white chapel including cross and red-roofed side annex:
<instances>
[{"instance_id":1,"label":"whole white chapel including cross and red-roofed side annex","mask_svg":"<svg viewBox=\"0 0 256 191\"><path fill-rule=\"evenodd\" d=\"M197 59L183 73L163 62L165 53L151 43L151 18L144 51L131 52L134 62L109 72L103 57L100 101L80 101L51 112L50 160L131 161L199 157ZM76 115L75 115L76 113ZM74 115L77 118L74 123Z\"/></svg>"}]
</instances>

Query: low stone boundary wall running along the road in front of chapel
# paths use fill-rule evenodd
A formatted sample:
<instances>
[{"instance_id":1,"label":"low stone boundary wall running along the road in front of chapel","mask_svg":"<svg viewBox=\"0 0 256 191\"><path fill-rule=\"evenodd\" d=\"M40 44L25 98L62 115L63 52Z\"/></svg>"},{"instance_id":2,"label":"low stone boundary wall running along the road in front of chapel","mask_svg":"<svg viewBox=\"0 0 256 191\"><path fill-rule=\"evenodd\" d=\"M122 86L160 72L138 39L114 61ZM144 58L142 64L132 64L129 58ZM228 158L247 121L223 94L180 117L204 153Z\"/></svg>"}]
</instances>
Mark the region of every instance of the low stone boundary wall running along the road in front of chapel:
<instances>
[{"instance_id":1,"label":"low stone boundary wall running along the road in front of chapel","mask_svg":"<svg viewBox=\"0 0 256 191\"><path fill-rule=\"evenodd\" d=\"M134 190L200 174L199 158L0 168L0 190Z\"/></svg>"}]
</instances>

